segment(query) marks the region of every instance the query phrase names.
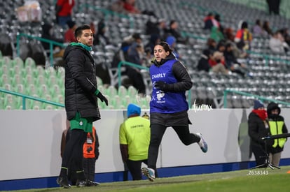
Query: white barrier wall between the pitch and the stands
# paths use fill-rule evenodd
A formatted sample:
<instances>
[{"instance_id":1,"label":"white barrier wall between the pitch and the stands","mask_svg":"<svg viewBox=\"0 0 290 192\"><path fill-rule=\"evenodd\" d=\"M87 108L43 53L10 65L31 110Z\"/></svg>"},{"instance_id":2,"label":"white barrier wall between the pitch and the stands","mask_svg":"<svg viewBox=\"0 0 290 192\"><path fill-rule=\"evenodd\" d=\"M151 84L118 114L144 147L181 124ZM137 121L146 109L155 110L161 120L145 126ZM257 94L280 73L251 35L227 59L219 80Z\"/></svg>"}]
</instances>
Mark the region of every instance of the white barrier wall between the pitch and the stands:
<instances>
[{"instance_id":1,"label":"white barrier wall between the pitch and the stands","mask_svg":"<svg viewBox=\"0 0 290 192\"><path fill-rule=\"evenodd\" d=\"M247 117L251 110L190 110L193 122L190 130L204 135L208 152L202 153L197 144L184 146L172 128L168 128L160 147L158 168L248 161L247 137L240 141L246 144L246 152L241 153L238 142L239 130L247 134L244 130L247 119L241 124L243 112ZM94 123L100 142L96 172L123 170L118 143L123 113L122 110L101 110L102 119ZM287 119L290 109L282 109L282 115L290 128L290 119ZM64 110L0 110L0 119L0 180L59 175L60 140L66 128ZM289 149L290 142L286 142L282 158L290 158Z\"/></svg>"}]
</instances>

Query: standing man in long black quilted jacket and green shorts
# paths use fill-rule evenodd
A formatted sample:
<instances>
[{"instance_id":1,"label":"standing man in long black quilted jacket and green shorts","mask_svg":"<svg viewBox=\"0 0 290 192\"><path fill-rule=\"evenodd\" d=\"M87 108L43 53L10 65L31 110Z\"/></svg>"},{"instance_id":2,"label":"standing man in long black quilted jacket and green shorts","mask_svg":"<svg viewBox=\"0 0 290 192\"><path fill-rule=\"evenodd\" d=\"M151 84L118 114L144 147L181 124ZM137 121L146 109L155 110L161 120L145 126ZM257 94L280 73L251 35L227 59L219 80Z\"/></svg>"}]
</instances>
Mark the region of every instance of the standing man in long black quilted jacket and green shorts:
<instances>
[{"instance_id":1,"label":"standing man in long black quilted jacket and green shorts","mask_svg":"<svg viewBox=\"0 0 290 192\"><path fill-rule=\"evenodd\" d=\"M62 158L62 168L57 184L70 188L67 170L74 161L77 172L76 186L85 186L83 172L83 144L87 133L92 132L92 122L100 119L97 98L108 105L108 100L97 89L92 50L93 34L88 25L76 28L78 43L71 43L64 52L65 61L65 110L71 126L71 138L67 142Z\"/></svg>"}]
</instances>

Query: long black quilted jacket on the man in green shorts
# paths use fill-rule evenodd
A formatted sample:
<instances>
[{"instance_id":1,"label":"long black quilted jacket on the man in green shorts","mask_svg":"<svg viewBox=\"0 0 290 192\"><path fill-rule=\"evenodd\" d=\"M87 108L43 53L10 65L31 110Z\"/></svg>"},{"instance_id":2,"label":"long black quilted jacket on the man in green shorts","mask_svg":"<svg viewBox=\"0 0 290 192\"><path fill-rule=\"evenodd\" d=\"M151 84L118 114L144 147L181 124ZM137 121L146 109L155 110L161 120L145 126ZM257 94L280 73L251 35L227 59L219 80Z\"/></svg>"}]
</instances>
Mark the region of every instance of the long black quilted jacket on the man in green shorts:
<instances>
[{"instance_id":1,"label":"long black quilted jacket on the man in green shorts","mask_svg":"<svg viewBox=\"0 0 290 192\"><path fill-rule=\"evenodd\" d=\"M65 110L71 120L79 112L81 117L100 119L97 106L97 79L94 59L81 46L69 45L64 51L65 61Z\"/></svg>"}]
</instances>

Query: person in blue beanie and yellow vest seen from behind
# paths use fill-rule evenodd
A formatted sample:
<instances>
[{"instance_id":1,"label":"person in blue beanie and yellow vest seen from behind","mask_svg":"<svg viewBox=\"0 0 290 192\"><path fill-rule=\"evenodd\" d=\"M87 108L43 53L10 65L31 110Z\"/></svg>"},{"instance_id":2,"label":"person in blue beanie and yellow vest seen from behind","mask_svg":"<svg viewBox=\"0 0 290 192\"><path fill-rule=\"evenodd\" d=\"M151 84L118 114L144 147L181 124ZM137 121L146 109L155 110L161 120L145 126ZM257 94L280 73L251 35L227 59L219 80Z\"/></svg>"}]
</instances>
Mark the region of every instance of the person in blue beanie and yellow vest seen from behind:
<instances>
[{"instance_id":1,"label":"person in blue beanie and yellow vest seen from behind","mask_svg":"<svg viewBox=\"0 0 290 192\"><path fill-rule=\"evenodd\" d=\"M127 165L133 180L141 180L141 163L147 164L150 142L150 121L140 117L141 108L130 103L127 119L120 124L119 140L123 163Z\"/></svg>"}]
</instances>

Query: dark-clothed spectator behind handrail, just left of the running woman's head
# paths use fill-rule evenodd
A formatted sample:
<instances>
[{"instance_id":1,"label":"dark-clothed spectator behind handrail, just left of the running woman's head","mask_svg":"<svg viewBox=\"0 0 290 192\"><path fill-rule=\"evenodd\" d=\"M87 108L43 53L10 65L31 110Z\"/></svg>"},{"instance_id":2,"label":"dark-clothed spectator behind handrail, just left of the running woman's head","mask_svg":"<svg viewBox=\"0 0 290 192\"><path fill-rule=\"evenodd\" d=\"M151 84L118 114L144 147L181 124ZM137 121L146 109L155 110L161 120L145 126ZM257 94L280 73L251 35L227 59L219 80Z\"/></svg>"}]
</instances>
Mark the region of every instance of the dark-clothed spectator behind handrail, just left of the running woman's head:
<instances>
[{"instance_id":1,"label":"dark-clothed spectator behind handrail, just left of the running woman's head","mask_svg":"<svg viewBox=\"0 0 290 192\"><path fill-rule=\"evenodd\" d=\"M139 34L134 34L134 42L132 45L130 45L130 47L128 47L126 61L143 66L143 57L144 47L142 44L141 36ZM141 75L140 68L126 66L125 74L130 78L132 85L138 90L138 94L146 94L146 87Z\"/></svg>"}]
</instances>

